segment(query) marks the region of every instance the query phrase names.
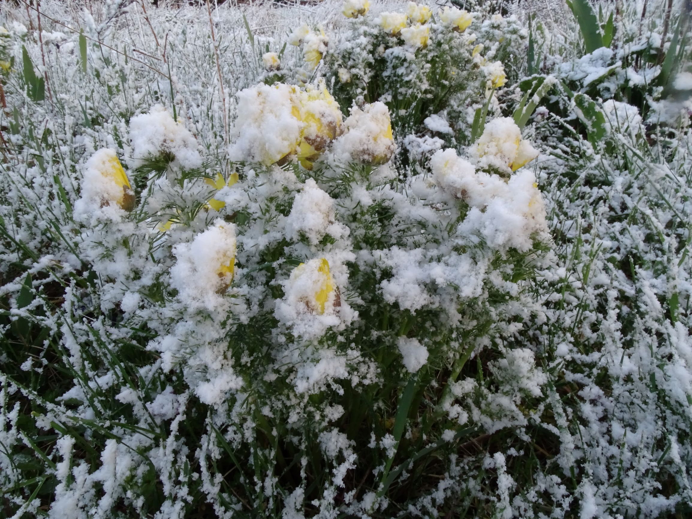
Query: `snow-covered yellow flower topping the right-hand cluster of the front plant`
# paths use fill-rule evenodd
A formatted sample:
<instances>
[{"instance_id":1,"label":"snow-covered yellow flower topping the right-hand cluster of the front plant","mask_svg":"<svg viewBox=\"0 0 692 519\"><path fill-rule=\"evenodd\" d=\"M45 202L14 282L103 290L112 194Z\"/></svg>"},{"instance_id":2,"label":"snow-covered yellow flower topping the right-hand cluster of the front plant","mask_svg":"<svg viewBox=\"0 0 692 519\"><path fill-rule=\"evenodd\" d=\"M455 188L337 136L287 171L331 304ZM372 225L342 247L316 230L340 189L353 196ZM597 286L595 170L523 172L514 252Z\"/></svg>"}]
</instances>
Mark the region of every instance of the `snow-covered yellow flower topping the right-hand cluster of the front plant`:
<instances>
[{"instance_id":1,"label":"snow-covered yellow flower topping the right-hand cluster of the front plant","mask_svg":"<svg viewBox=\"0 0 692 519\"><path fill-rule=\"evenodd\" d=\"M521 138L521 130L513 119L501 117L491 120L478 139L477 156L482 165L516 171L538 156L528 140Z\"/></svg>"}]
</instances>

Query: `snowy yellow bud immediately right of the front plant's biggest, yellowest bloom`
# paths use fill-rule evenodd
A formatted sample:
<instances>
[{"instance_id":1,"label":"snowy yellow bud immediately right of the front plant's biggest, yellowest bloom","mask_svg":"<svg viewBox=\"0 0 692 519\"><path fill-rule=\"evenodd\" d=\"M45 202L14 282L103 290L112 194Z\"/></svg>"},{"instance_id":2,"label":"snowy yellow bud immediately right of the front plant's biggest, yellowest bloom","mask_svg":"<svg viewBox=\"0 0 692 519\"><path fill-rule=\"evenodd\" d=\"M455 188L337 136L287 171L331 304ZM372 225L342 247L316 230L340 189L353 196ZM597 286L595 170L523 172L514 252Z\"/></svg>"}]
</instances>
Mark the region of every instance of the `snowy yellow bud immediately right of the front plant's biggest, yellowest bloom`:
<instances>
[{"instance_id":1,"label":"snowy yellow bud immediately right of the front plant's biggest, yellowest bloom","mask_svg":"<svg viewBox=\"0 0 692 519\"><path fill-rule=\"evenodd\" d=\"M394 153L392 121L387 105L377 101L363 109L352 107L343 124L344 134L334 141L334 154L345 162L384 164Z\"/></svg>"}]
</instances>

